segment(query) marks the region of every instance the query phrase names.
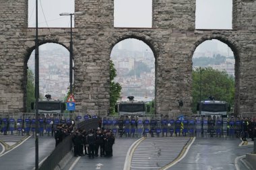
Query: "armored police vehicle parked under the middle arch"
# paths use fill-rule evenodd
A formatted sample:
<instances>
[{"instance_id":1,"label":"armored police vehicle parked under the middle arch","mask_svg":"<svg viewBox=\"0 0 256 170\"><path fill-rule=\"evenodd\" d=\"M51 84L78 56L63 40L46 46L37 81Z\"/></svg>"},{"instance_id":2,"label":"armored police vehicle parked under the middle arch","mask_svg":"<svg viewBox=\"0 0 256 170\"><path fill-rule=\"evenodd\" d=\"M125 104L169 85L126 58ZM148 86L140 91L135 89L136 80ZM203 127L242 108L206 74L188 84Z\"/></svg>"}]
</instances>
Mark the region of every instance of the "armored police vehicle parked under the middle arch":
<instances>
[{"instance_id":1,"label":"armored police vehicle parked under the middle arch","mask_svg":"<svg viewBox=\"0 0 256 170\"><path fill-rule=\"evenodd\" d=\"M121 101L116 105L116 112L119 116L143 116L146 114L146 103L144 101L135 101L133 96L127 97L129 101ZM150 108L147 108L149 112Z\"/></svg>"}]
</instances>

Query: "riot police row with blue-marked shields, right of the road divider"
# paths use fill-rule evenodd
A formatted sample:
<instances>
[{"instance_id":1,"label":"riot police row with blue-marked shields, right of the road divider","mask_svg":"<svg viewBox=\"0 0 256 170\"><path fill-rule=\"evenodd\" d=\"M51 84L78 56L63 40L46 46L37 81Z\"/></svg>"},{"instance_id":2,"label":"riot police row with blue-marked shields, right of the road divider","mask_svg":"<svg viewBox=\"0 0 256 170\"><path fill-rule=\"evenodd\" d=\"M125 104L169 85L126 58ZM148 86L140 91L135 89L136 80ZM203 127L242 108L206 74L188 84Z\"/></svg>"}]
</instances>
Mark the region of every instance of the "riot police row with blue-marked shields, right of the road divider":
<instances>
[{"instance_id":1,"label":"riot police row with blue-marked shields, right of the road divider","mask_svg":"<svg viewBox=\"0 0 256 170\"><path fill-rule=\"evenodd\" d=\"M172 119L168 117L121 117L103 118L102 126L111 129L115 136L237 136L243 132L240 118L218 116Z\"/></svg>"}]
</instances>

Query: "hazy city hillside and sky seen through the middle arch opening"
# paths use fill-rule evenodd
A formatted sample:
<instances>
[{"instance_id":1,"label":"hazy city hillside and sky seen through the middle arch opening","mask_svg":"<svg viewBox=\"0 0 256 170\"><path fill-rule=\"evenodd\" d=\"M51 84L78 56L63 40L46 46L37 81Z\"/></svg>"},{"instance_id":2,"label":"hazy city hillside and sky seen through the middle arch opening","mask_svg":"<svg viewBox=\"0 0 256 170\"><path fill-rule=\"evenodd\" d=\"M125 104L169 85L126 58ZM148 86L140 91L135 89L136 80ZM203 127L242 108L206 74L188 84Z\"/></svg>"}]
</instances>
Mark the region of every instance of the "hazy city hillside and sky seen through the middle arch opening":
<instances>
[{"instance_id":1,"label":"hazy city hillside and sky seen through the middle arch opening","mask_svg":"<svg viewBox=\"0 0 256 170\"><path fill-rule=\"evenodd\" d=\"M121 40L113 47L110 60L117 73L114 82L122 87L118 102L127 101L128 96L137 101L154 101L155 57L150 46L135 38Z\"/></svg>"}]
</instances>

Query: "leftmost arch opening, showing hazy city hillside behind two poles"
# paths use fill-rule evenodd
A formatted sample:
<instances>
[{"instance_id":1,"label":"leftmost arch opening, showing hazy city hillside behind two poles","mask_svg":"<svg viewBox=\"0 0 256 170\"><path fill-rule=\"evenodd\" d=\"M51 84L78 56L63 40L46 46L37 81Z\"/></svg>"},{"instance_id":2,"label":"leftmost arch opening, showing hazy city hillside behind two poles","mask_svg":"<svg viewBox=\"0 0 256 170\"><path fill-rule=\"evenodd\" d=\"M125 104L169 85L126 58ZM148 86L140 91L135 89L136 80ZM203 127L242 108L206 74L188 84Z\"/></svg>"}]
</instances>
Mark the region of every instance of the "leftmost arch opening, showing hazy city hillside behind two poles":
<instances>
[{"instance_id":1,"label":"leftmost arch opening, showing hazy city hillside behind two poles","mask_svg":"<svg viewBox=\"0 0 256 170\"><path fill-rule=\"evenodd\" d=\"M34 101L34 51L26 61L26 112ZM39 93L40 99L50 94L52 99L64 100L69 91L69 50L56 43L39 46Z\"/></svg>"}]
</instances>

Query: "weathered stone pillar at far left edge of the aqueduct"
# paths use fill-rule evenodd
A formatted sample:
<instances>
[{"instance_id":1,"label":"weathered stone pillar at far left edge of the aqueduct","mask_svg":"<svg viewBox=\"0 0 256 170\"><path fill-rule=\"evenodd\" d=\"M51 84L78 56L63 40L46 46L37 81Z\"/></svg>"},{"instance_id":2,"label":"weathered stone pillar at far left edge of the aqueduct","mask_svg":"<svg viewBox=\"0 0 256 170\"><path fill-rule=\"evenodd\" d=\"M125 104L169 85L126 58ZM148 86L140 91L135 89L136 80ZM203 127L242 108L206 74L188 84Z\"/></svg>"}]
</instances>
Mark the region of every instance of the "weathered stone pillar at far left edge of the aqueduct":
<instances>
[{"instance_id":1,"label":"weathered stone pillar at far left edge of the aqueduct","mask_svg":"<svg viewBox=\"0 0 256 170\"><path fill-rule=\"evenodd\" d=\"M24 108L24 30L28 1L0 0L0 110Z\"/></svg>"}]
</instances>

